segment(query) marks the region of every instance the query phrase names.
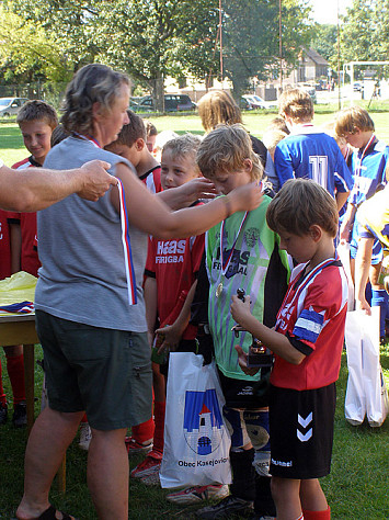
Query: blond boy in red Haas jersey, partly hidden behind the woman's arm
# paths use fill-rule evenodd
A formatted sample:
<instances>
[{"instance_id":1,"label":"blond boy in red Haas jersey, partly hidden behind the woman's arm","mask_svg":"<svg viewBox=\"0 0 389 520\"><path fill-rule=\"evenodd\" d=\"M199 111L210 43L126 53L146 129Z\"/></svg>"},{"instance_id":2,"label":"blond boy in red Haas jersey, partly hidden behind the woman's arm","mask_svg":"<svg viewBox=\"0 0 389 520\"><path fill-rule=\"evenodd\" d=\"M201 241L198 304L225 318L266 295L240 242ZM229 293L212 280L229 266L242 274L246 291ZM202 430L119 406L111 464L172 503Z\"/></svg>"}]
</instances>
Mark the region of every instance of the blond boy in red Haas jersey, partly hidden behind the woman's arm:
<instances>
[{"instance_id":1,"label":"blond boy in red Haas jersey, partly hidden behind the woman's arm","mask_svg":"<svg viewBox=\"0 0 389 520\"><path fill-rule=\"evenodd\" d=\"M201 177L195 158L201 139L185 134L168 142L162 150L161 182L163 190L179 188ZM196 205L197 203L191 204ZM149 336L155 337L160 351L197 352L197 327L190 324L191 304L197 284L197 272L204 253L204 235L186 239L161 240L153 238L146 263L145 302ZM159 328L156 330L157 318ZM151 358L152 359L152 358ZM153 364L153 370L157 363ZM168 364L159 365L168 375ZM157 380L157 382L159 382ZM155 377L153 448L146 459L133 470L131 477L144 484L159 482L163 453L165 385L156 385ZM205 497L222 498L227 486L196 486L192 489L198 500ZM169 498L169 497L168 497ZM186 497L187 498L187 497ZM180 497L170 497L180 501Z\"/></svg>"}]
</instances>

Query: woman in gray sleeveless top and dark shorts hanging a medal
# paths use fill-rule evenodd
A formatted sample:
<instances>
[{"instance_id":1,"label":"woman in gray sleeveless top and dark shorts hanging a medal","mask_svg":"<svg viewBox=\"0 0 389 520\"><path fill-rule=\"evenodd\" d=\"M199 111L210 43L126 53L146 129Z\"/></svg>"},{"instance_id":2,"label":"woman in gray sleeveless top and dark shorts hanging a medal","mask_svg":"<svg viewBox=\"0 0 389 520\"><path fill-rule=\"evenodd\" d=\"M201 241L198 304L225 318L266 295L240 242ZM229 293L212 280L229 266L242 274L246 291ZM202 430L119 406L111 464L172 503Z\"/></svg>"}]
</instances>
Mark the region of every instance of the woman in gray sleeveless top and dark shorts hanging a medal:
<instances>
[{"instance_id":1,"label":"woman in gray sleeveless top and dark shorts hanging a medal","mask_svg":"<svg viewBox=\"0 0 389 520\"><path fill-rule=\"evenodd\" d=\"M162 197L147 191L128 161L103 149L128 123L128 102L125 75L96 64L80 69L66 92L62 124L71 136L45 162L60 169L104 160L124 193L123 204L117 186L95 203L70 195L38 214L43 267L35 306L50 406L30 436L19 519L57 518L48 491L84 410L92 428L88 485L99 518L128 517L124 439L127 427L151 414L141 292L147 235L201 234L261 201L260 189L251 185L203 206L171 212Z\"/></svg>"}]
</instances>

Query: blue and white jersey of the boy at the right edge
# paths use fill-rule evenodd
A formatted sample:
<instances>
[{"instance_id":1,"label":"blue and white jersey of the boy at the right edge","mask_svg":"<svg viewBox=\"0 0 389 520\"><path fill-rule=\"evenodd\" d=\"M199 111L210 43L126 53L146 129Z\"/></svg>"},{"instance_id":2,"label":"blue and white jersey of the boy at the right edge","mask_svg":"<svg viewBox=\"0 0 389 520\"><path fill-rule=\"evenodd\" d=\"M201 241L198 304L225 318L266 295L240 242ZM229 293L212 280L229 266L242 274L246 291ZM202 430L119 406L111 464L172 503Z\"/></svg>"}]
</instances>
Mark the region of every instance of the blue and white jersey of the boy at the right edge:
<instances>
[{"instance_id":1,"label":"blue and white jersey of the boy at the right edge","mask_svg":"<svg viewBox=\"0 0 389 520\"><path fill-rule=\"evenodd\" d=\"M388 160L389 146L378 139L373 139L365 149L354 151L352 156L354 188L348 197L351 204L359 206L386 185L385 170Z\"/></svg>"}]
</instances>

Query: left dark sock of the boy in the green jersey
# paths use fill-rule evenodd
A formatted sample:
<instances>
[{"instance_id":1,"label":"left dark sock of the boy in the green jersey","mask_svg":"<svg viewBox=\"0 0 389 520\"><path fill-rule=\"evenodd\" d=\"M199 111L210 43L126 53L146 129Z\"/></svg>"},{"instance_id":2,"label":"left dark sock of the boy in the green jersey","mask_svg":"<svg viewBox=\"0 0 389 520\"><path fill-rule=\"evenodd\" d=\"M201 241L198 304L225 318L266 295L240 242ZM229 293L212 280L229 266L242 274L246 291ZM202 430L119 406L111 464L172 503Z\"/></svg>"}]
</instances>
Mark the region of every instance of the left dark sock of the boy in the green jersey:
<instances>
[{"instance_id":1,"label":"left dark sock of the boy in the green jersey","mask_svg":"<svg viewBox=\"0 0 389 520\"><path fill-rule=\"evenodd\" d=\"M230 450L230 462L232 470L231 495L242 500L254 500L255 498L255 470L252 465L254 449Z\"/></svg>"}]
</instances>

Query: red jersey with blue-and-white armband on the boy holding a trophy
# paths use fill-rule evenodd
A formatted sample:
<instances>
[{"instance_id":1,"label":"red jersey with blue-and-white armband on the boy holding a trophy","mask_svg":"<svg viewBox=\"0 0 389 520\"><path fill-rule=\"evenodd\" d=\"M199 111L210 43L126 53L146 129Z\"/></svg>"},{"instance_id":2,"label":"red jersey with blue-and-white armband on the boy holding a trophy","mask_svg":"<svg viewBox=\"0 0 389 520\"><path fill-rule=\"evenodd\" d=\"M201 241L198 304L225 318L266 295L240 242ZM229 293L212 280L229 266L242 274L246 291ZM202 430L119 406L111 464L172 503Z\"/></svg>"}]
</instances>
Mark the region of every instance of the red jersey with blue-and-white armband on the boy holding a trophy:
<instances>
[{"instance_id":1,"label":"red jersey with blue-and-white armband on the boy holding a trophy","mask_svg":"<svg viewBox=\"0 0 389 520\"><path fill-rule=\"evenodd\" d=\"M293 271L278 312L276 330L288 336L306 358L299 365L275 355L271 383L297 391L335 382L341 366L347 312L347 281L339 260L329 259L307 275L306 264Z\"/></svg>"}]
</instances>

